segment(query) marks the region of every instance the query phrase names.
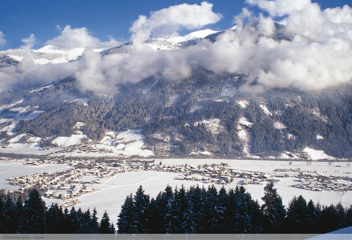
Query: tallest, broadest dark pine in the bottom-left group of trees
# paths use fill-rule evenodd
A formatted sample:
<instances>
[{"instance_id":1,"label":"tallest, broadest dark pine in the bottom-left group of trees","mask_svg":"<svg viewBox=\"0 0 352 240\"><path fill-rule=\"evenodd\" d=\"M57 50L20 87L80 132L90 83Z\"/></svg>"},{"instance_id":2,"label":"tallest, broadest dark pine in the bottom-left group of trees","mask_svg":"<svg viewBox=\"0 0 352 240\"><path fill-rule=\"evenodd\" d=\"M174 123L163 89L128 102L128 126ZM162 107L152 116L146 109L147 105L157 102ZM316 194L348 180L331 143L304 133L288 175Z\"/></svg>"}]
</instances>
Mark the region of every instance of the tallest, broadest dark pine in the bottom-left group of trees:
<instances>
[{"instance_id":1,"label":"tallest, broadest dark pine in the bottom-left group of trees","mask_svg":"<svg viewBox=\"0 0 352 240\"><path fill-rule=\"evenodd\" d=\"M37 189L29 192L23 206L23 234L45 233L45 203Z\"/></svg>"}]
</instances>

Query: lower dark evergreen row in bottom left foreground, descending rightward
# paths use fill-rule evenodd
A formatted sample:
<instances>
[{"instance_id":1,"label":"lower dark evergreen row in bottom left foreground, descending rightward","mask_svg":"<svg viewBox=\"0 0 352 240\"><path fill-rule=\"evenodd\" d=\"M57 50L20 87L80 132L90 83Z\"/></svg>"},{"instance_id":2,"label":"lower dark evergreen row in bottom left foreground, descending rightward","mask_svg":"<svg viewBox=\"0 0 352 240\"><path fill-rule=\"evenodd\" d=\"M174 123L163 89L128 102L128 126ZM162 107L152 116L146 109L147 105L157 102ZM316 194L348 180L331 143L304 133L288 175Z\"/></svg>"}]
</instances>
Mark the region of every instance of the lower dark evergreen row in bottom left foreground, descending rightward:
<instances>
[{"instance_id":1,"label":"lower dark evergreen row in bottom left foreground, descending rightward","mask_svg":"<svg viewBox=\"0 0 352 240\"><path fill-rule=\"evenodd\" d=\"M97 211L89 208L62 209L52 203L45 206L37 189L32 189L24 200L21 196L13 201L13 194L7 193L5 199L0 195L0 233L6 234L107 234L115 233L113 223L106 211L98 222Z\"/></svg>"}]
</instances>

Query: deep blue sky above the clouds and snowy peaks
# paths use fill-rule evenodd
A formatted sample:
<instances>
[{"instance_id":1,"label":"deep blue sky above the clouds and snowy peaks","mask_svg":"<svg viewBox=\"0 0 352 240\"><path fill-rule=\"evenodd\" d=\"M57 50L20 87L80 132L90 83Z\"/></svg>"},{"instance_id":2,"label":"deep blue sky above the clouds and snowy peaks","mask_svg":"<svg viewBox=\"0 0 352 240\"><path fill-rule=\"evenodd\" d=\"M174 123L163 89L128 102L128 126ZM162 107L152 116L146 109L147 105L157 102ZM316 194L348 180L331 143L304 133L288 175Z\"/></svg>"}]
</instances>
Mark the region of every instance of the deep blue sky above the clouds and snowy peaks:
<instances>
[{"instance_id":1,"label":"deep blue sky above the clouds and snowy peaks","mask_svg":"<svg viewBox=\"0 0 352 240\"><path fill-rule=\"evenodd\" d=\"M38 49L49 39L60 35L66 25L71 28L86 27L89 33L101 41L111 37L125 42L130 38L128 29L139 15L149 17L151 11L182 3L198 4L195 0L2 0L0 14L0 31L6 44L0 50L19 48L21 39L30 34L36 37L33 48ZM213 12L221 13L223 18L216 24L206 26L213 30L224 30L233 26L233 17L243 7L256 8L244 3L244 0L209 0L213 4ZM351 5L351 0L317 0L321 8ZM60 26L60 28L58 27ZM203 27L204 28L204 27ZM190 32L190 30L187 30ZM187 33L184 32L184 34Z\"/></svg>"}]
</instances>

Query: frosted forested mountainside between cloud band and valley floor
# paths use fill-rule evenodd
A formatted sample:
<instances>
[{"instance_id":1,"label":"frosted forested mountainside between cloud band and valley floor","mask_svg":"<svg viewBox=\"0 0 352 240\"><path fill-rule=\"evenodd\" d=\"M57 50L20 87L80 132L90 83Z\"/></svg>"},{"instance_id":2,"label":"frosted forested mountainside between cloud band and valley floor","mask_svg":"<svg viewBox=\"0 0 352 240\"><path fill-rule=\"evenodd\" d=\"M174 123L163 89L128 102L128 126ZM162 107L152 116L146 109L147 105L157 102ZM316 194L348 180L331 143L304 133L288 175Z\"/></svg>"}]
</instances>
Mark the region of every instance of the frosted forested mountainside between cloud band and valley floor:
<instances>
[{"instance_id":1,"label":"frosted forested mountainside between cloud band and valley floor","mask_svg":"<svg viewBox=\"0 0 352 240\"><path fill-rule=\"evenodd\" d=\"M352 157L350 86L319 93L276 88L249 94L241 90L243 83L242 75L197 69L179 81L156 76L121 84L118 94L107 96L82 93L70 78L39 90L3 92L0 104L23 99L12 106L32 107L22 119L34 109L42 111L35 118L19 119L15 127L18 134L42 138L70 136L76 122L83 122L80 131L92 140L107 131L142 129L156 155L206 151L276 156L308 146L334 157ZM2 109L2 117L11 114ZM4 132L2 136L10 138Z\"/></svg>"}]
</instances>

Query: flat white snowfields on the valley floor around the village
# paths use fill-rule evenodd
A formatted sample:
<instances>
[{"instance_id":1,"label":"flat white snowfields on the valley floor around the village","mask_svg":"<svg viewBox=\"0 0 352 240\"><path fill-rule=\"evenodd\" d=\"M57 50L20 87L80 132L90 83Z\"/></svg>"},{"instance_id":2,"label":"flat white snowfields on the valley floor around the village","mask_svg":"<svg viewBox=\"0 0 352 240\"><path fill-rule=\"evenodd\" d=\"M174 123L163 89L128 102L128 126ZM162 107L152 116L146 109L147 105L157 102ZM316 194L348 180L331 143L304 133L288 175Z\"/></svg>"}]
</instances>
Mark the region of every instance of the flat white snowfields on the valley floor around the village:
<instances>
[{"instance_id":1,"label":"flat white snowfields on the valley floor around the village","mask_svg":"<svg viewBox=\"0 0 352 240\"><path fill-rule=\"evenodd\" d=\"M114 132L111 132L111 134ZM263 172L263 173L274 173L275 169L297 169L301 171L314 172L316 171L319 175L330 176L350 176L352 177L352 166L348 166L346 162L333 162L331 166L328 166L327 162L311 162L311 165L307 165L306 162L302 161L291 161L291 165L288 161L275 161L275 160L246 160L246 159L156 159L155 163L159 164L162 162L163 165L184 165L187 163L188 166L204 164L212 165L213 163L223 162L228 164L226 168L236 169L237 171L248 171L248 172ZM65 171L72 168L67 164L43 164L39 166L26 166L22 162L18 161L0 161L0 188L6 188L6 190L15 190L19 186L8 185L6 179L10 177L17 177L20 175L26 175L31 173L38 173L43 171ZM343 166L344 168L338 167ZM340 172L339 172L340 171ZM159 172L159 171L139 171L139 172L125 172L118 173L117 175L104 179L102 184L94 184L95 189L101 189L99 191L84 194L78 197L81 203L75 205L75 208L79 207L82 210L88 208L93 209L96 207L98 210L98 217L101 217L103 212L107 210L112 221L116 221L117 215L120 212L120 207L124 203L127 195L131 192L134 195L139 185L142 185L146 194L150 197L156 197L159 191L165 189L166 185L169 184L172 188L178 187L181 184L187 189L191 185L200 184L208 187L209 184L198 182L198 181L180 181L177 177L182 176L180 173L174 172ZM84 179L84 178L83 178ZM344 207L352 204L352 191L347 192L336 192L336 191L310 191L305 189L293 188L292 184L295 184L297 178L277 178L279 182L275 183L274 188L277 188L278 194L283 199L283 204L288 206L288 202L293 198L294 195L302 195L307 201L312 199L314 203L318 201L320 204L330 205L331 203L338 203L341 201ZM91 179L85 179L91 180ZM241 185L243 178L235 178L231 184L225 185L225 189L235 188L236 185ZM343 183L343 180L338 180ZM261 197L264 196L263 185L245 185L245 188L250 192L254 200L258 200L259 204L262 204ZM350 184L350 182L349 182ZM219 190L220 184L214 184ZM46 204L49 205L51 202L56 200L52 198L43 198ZM62 201L62 200L60 200Z\"/></svg>"}]
</instances>

